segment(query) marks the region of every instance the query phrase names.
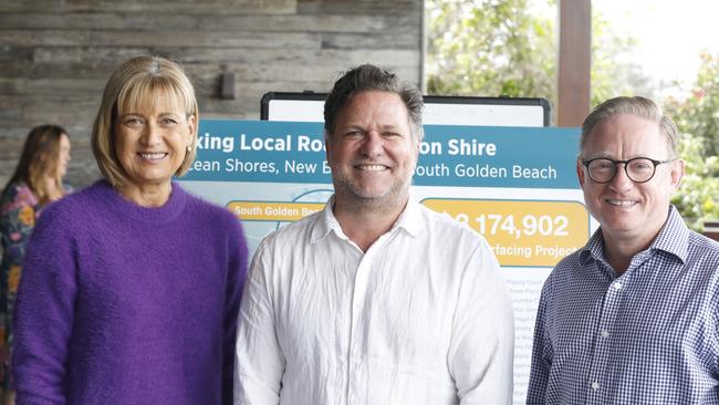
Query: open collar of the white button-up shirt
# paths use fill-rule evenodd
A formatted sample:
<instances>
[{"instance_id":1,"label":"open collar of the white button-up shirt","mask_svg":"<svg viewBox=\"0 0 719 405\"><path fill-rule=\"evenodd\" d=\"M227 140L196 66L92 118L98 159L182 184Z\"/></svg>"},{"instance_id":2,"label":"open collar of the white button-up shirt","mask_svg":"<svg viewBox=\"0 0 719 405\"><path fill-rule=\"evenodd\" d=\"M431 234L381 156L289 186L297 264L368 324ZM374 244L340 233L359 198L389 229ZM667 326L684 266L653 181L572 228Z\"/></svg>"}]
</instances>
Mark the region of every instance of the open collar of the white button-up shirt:
<instances>
[{"instance_id":1,"label":"open collar of the white button-up shirt","mask_svg":"<svg viewBox=\"0 0 719 405\"><path fill-rule=\"evenodd\" d=\"M342 227L335 218L332 209L334 207L334 195L330 197L327 204L324 206L322 214L317 218L316 226L312 228L311 243L314 243L325 238L330 231L334 231L340 238L348 240L346 235L342 231ZM425 228L425 222L421 220L421 211L419 204L411 198L407 201L405 209L397 218L395 225L392 226L388 232L394 232L396 229L404 229L411 236L419 235Z\"/></svg>"}]
</instances>

